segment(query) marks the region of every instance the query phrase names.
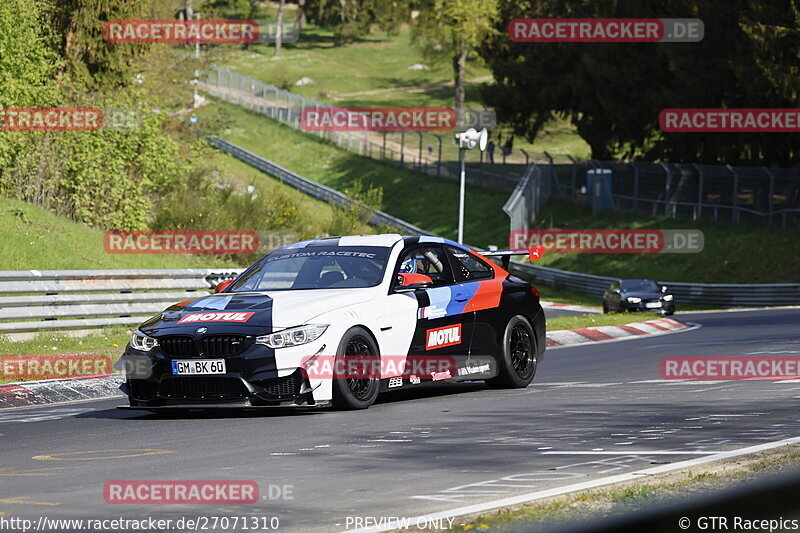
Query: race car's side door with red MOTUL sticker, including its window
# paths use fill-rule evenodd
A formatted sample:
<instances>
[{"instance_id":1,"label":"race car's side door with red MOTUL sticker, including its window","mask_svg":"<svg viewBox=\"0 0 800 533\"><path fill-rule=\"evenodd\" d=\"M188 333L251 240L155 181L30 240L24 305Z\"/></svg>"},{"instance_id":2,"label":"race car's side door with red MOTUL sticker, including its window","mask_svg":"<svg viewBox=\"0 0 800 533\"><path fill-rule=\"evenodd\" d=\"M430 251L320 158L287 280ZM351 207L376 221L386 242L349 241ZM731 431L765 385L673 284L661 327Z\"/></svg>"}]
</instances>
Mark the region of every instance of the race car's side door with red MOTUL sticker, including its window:
<instances>
[{"instance_id":1,"label":"race car's side door with red MOTUL sticker, including its window","mask_svg":"<svg viewBox=\"0 0 800 533\"><path fill-rule=\"evenodd\" d=\"M474 313L465 312L470 294L455 282L444 248L439 244L409 248L401 254L396 272L423 275L431 280L429 287L413 291L417 323L409 353L468 354L474 326Z\"/></svg>"}]
</instances>

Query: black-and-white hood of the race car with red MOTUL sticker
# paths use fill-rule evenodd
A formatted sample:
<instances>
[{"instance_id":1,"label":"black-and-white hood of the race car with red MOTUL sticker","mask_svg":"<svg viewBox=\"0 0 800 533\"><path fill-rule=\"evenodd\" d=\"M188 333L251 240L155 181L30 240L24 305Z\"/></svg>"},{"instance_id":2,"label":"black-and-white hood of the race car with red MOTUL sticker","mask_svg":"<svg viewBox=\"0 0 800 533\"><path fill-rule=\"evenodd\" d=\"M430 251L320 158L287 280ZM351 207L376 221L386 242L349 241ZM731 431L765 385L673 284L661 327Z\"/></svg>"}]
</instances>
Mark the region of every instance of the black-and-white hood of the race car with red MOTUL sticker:
<instances>
[{"instance_id":1,"label":"black-and-white hood of the race car with red MOTUL sticker","mask_svg":"<svg viewBox=\"0 0 800 533\"><path fill-rule=\"evenodd\" d=\"M194 332L269 333L299 326L315 316L371 300L374 288L311 289L247 293L220 293L168 307L144 322L147 335Z\"/></svg>"}]
</instances>

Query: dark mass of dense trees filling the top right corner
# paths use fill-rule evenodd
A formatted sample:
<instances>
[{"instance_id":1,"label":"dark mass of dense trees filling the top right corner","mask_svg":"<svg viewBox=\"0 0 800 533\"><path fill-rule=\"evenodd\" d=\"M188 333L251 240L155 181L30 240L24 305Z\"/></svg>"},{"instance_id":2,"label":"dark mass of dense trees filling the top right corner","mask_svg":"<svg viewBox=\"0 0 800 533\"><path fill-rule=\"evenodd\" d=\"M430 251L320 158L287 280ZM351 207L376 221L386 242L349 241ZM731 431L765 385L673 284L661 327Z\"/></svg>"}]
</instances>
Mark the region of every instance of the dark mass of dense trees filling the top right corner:
<instances>
[{"instance_id":1,"label":"dark mass of dense trees filling the top right corner","mask_svg":"<svg viewBox=\"0 0 800 533\"><path fill-rule=\"evenodd\" d=\"M784 0L502 0L481 47L498 120L533 140L569 119L592 157L793 164L797 134L663 133L665 108L797 107L798 10ZM515 43L505 25L535 17L695 17L699 43ZM502 33L501 33L502 32Z\"/></svg>"}]
</instances>

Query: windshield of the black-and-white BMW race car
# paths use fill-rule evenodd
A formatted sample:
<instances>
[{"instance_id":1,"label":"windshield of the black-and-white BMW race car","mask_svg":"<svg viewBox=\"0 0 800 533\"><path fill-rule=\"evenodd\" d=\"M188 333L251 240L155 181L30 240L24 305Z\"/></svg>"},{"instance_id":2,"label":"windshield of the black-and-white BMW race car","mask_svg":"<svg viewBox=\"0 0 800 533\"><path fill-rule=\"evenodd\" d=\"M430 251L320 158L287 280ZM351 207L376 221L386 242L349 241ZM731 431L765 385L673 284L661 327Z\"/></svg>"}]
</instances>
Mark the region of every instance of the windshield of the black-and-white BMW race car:
<instances>
[{"instance_id":1,"label":"windshield of the black-and-white BMW race car","mask_svg":"<svg viewBox=\"0 0 800 533\"><path fill-rule=\"evenodd\" d=\"M374 287L391 248L307 246L275 250L242 274L226 292Z\"/></svg>"}]
</instances>

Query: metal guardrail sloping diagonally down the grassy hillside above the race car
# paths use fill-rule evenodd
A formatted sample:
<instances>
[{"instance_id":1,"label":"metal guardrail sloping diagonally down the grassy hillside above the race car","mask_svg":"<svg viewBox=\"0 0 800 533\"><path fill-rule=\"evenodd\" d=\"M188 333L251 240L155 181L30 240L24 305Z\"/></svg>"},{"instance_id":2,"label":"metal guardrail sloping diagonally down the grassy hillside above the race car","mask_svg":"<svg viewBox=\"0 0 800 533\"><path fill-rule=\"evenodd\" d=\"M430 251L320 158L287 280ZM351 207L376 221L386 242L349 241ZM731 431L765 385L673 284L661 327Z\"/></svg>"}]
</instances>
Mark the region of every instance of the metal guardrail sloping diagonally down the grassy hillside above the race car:
<instances>
[{"instance_id":1,"label":"metal guardrail sloping diagonally down the grassy hillside above the race car","mask_svg":"<svg viewBox=\"0 0 800 533\"><path fill-rule=\"evenodd\" d=\"M273 163L269 159L254 154L253 152L236 146L235 144L224 139L220 139L218 137L209 137L207 140L214 148L218 148L223 152L226 152L233 157L254 166L262 172L266 172L270 176L278 178L287 185L290 185L298 191L304 192L318 200L322 200L339 207L355 206L359 209L363 209L365 212L372 212L372 217L369 221L369 223L372 225L382 224L385 226L391 226L399 229L403 233L408 233L411 235L433 235L433 233L427 232L422 228L406 222L405 220L393 217L389 213L373 209L357 200L354 200L346 194L337 191L336 189L332 189L322 185L321 183L317 183L316 181L304 178L303 176L292 172L291 170L288 170L277 163Z\"/></svg>"}]
</instances>

